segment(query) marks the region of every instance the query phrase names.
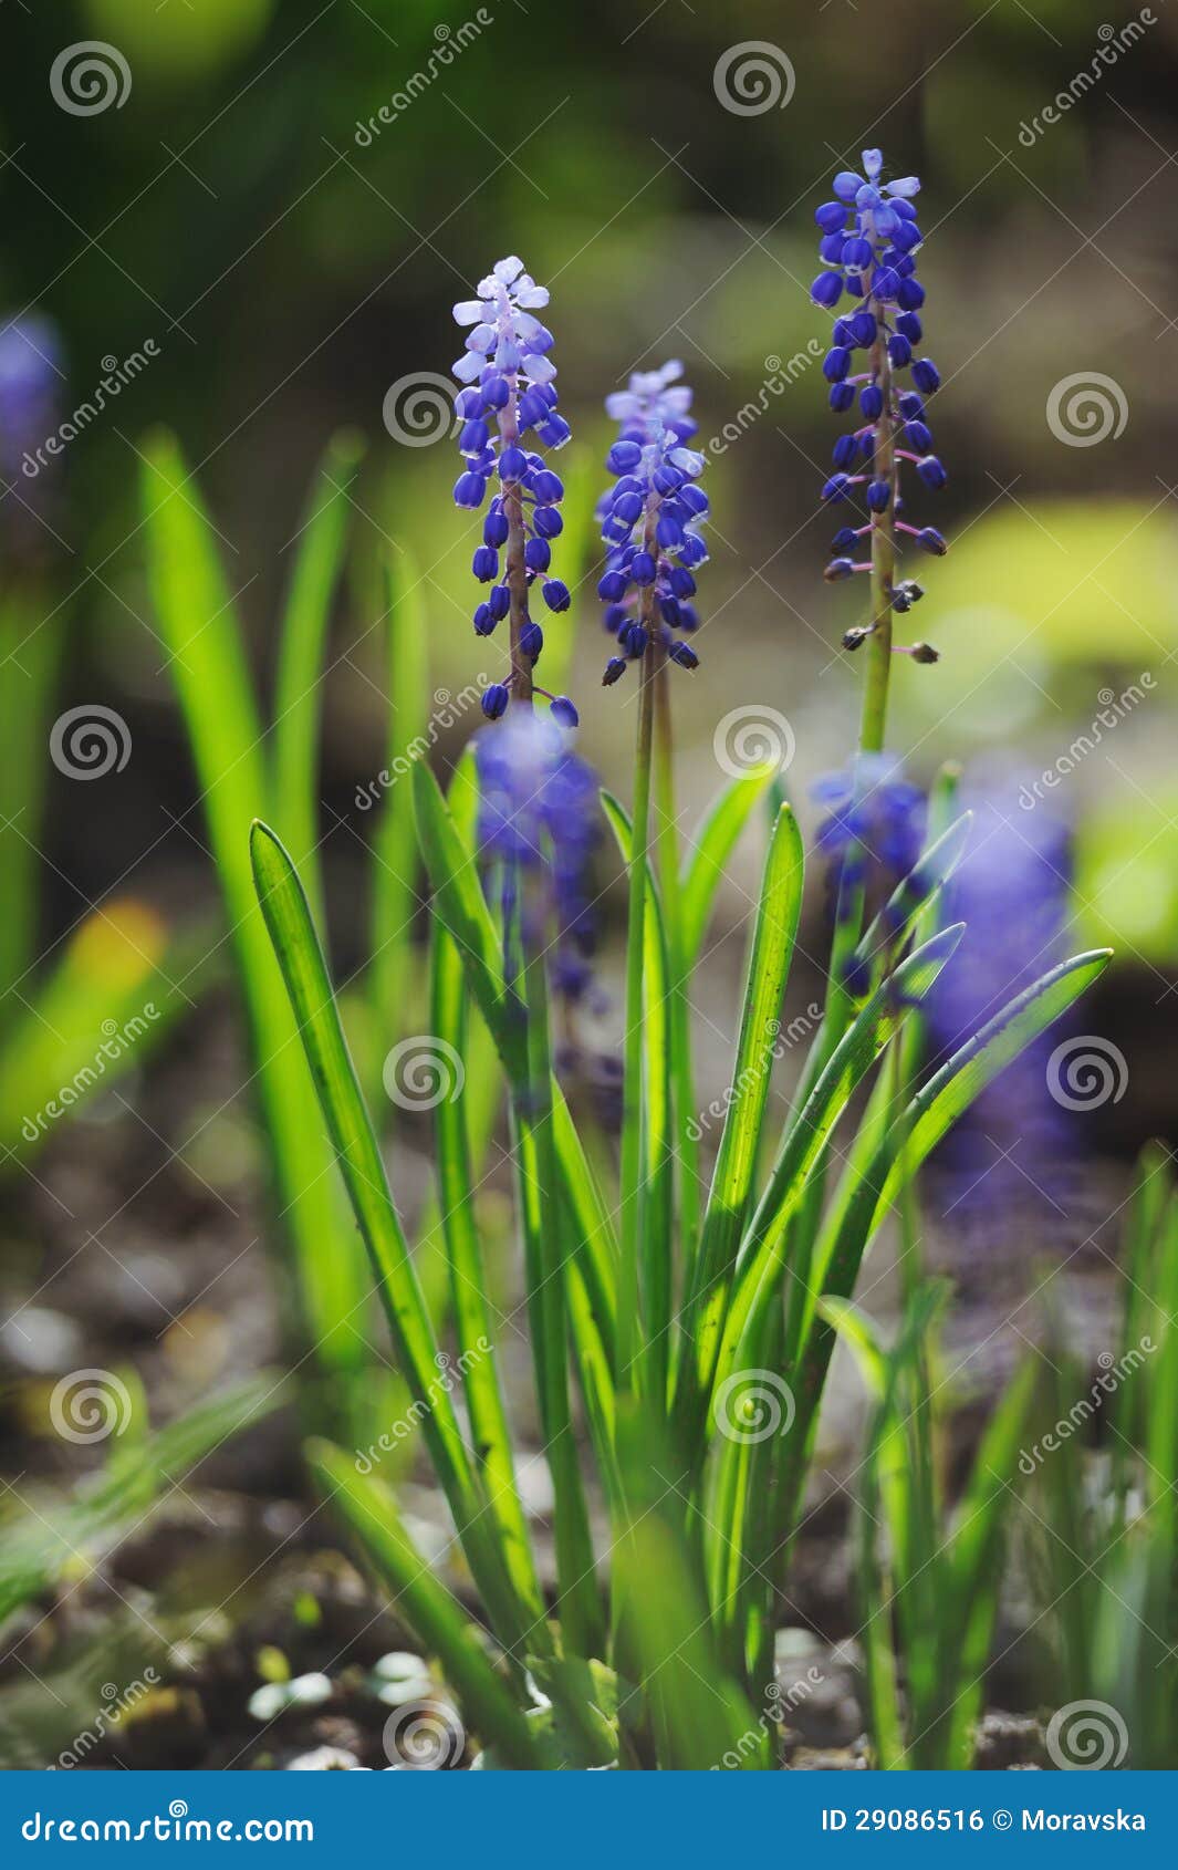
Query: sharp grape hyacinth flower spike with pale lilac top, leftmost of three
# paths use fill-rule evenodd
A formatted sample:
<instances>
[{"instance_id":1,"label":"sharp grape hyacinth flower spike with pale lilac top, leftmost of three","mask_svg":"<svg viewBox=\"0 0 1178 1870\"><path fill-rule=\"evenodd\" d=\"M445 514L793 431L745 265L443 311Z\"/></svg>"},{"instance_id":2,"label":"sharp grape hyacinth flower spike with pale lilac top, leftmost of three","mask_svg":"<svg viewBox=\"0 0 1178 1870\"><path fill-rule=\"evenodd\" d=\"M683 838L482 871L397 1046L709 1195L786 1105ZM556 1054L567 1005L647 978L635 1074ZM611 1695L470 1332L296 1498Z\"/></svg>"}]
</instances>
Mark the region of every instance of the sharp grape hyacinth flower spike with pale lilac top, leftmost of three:
<instances>
[{"instance_id":1,"label":"sharp grape hyacinth flower spike with pale lilac top, leftmost of three","mask_svg":"<svg viewBox=\"0 0 1178 1870\"><path fill-rule=\"evenodd\" d=\"M475 610L475 634L490 636L503 619L510 634L510 673L486 688L482 712L497 720L509 701L531 705L537 692L546 696L563 726L576 726L572 701L550 696L533 681L544 632L531 617L529 593L539 580L548 610L565 611L570 602L568 587L552 576L552 540L563 529L565 488L544 456L525 447L533 434L544 449L555 451L570 434L557 413L552 331L535 316L548 305L548 288L537 286L524 262L510 254L496 260L475 290L475 299L454 307L454 322L469 327L454 365L464 385L454 398L464 462L454 505L479 511L488 484L497 481L471 565L475 578L490 587Z\"/></svg>"}]
</instances>

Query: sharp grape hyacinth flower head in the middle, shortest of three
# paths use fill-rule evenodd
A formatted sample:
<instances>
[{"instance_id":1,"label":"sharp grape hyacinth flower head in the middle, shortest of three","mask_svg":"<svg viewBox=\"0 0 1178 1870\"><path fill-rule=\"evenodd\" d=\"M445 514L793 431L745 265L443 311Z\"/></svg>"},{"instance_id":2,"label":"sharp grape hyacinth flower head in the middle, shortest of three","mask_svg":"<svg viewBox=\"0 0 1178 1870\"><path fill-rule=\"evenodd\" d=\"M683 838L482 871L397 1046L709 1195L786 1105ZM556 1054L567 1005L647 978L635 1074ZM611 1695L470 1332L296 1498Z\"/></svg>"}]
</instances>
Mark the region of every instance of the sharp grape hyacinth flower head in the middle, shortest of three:
<instances>
[{"instance_id":1,"label":"sharp grape hyacinth flower head in the middle, shortest of three","mask_svg":"<svg viewBox=\"0 0 1178 1870\"><path fill-rule=\"evenodd\" d=\"M621 426L606 456L617 479L596 509L610 548L596 591L619 647L606 664L604 686L619 681L628 662L641 660L651 641L669 662L699 666L684 638L699 626L692 574L707 561L699 525L709 503L696 486L703 454L686 447L696 423L688 413L692 391L681 376L681 363L664 363L636 372L628 389L606 396L606 413Z\"/></svg>"}]
</instances>

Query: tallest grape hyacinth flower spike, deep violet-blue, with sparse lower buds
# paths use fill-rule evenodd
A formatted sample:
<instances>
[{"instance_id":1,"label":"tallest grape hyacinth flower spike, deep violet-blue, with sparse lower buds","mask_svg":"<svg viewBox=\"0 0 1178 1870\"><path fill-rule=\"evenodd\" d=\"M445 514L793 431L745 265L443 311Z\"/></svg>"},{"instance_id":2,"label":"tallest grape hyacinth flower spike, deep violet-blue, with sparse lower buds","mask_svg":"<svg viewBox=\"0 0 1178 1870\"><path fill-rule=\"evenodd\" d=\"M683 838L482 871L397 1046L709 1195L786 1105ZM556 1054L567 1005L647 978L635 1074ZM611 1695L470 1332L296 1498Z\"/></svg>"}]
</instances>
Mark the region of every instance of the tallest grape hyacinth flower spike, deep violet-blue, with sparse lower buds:
<instances>
[{"instance_id":1,"label":"tallest grape hyacinth flower spike, deep violet-blue, with sparse lower buds","mask_svg":"<svg viewBox=\"0 0 1178 1870\"><path fill-rule=\"evenodd\" d=\"M843 525L832 540L826 578L840 582L856 572L871 574L871 621L847 630L845 649L875 638L875 654L864 696L864 750L881 752L892 645L892 613L909 611L924 597L911 578L899 580L901 544L942 557L946 544L933 525L912 525L905 514L903 469L926 488L946 484L946 471L933 453L926 396L941 385L931 357L918 357L924 337L924 286L916 279L922 232L912 198L916 176L883 181L883 153L864 150L864 174L843 170L834 178L834 200L815 211L821 228L819 256L826 271L810 288L815 305L838 312L832 346L823 361L830 383L830 408L849 413L858 402L858 426L834 445L834 473L823 486L830 505L862 499L866 520ZM843 303L849 299L849 303ZM864 368L856 370L855 353ZM905 372L909 381L905 383ZM862 544L868 540L868 544ZM898 654L937 662L927 643Z\"/></svg>"}]
</instances>

